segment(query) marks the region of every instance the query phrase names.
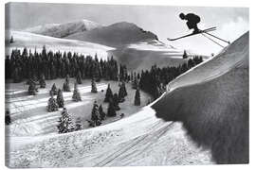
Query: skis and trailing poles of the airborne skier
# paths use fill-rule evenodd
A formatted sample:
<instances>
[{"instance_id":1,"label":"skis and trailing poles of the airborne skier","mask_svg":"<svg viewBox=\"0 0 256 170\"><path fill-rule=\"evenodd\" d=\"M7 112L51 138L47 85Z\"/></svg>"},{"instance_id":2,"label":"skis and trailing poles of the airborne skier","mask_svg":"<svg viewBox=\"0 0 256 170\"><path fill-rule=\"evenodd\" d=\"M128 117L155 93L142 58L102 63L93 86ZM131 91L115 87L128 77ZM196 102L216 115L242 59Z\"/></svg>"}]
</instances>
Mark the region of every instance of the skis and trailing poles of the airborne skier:
<instances>
[{"instance_id":1,"label":"skis and trailing poles of the airborne skier","mask_svg":"<svg viewBox=\"0 0 256 170\"><path fill-rule=\"evenodd\" d=\"M201 35L203 35L204 37L208 38L211 42L215 42L214 40L210 39L210 37L208 37L208 36L205 35L205 34L207 34L207 35L209 35L209 36L211 36L211 37L213 37L213 38L215 38L215 39L218 39L218 40L220 40L220 41L222 41L222 42L230 43L230 42L228 42L228 41L226 41L226 40L223 40L223 39L221 39L221 38L219 38L219 37L216 37L216 36L214 36L214 35L212 35L212 34L209 33L209 32L214 31L214 30L216 30L216 26L210 27L210 28L207 28L207 29L204 29L204 30L199 30L199 31L197 31L197 32L192 32L191 34L188 34L188 35L185 35L185 36L181 36L181 37L178 37L178 38L175 38L175 39L169 39L169 38L168 38L167 40L169 40L169 41L176 41L176 40L183 39L183 38L186 38L186 37L191 37L191 36L194 36L194 35L197 35L197 34L201 34ZM221 47L224 47L223 45L221 45L221 44L218 43L218 42L215 42L215 43L218 44L218 45L220 45Z\"/></svg>"}]
</instances>

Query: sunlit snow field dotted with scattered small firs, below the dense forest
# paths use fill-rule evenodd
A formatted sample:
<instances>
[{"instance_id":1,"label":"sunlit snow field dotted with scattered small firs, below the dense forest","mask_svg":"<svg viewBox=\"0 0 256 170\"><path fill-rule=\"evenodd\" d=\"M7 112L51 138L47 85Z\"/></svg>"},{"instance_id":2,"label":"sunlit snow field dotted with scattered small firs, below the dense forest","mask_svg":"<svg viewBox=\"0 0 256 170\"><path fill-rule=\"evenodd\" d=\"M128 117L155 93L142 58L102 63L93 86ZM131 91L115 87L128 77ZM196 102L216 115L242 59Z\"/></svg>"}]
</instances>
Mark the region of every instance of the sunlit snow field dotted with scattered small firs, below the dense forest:
<instances>
[{"instance_id":1,"label":"sunlit snow field dotted with scattered small firs, below the dense forest","mask_svg":"<svg viewBox=\"0 0 256 170\"><path fill-rule=\"evenodd\" d=\"M9 136L37 136L46 134L57 134L57 121L61 117L61 110L47 112L46 106L49 99L49 91L52 84L55 83L57 88L62 88L64 79L46 80L46 89L39 89L37 95L28 95L28 85L23 83L9 83L6 89L6 107L9 108L12 124L9 126ZM91 118L91 110L93 102L97 101L98 105L102 104L104 112L107 112L108 104L104 103L105 90L107 84L110 84L113 93L119 93L117 81L101 81L97 83L98 93L91 93L90 80L83 80L78 85L78 89L82 96L81 102L72 101L74 79L70 78L71 92L64 92L64 107L69 110L71 118L75 121L78 117L82 118L82 128L87 128L86 120ZM120 119L120 113L129 116L137 112L141 107L145 106L151 97L141 92L141 106L134 106L135 90L131 84L126 84L128 96L123 103L119 103L120 110L117 116L107 118L102 125L114 122ZM101 92L103 91L103 92ZM56 96L55 96L56 97Z\"/></svg>"}]
</instances>

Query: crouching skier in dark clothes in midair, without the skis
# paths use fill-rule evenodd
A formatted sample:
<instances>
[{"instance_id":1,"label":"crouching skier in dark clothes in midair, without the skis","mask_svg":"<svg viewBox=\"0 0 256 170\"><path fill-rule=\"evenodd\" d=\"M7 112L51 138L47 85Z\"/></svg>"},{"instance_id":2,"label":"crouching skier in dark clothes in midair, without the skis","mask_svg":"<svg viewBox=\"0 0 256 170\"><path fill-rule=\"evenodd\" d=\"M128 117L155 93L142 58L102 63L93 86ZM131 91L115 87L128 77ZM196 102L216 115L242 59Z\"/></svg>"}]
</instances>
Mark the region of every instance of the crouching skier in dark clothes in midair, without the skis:
<instances>
[{"instance_id":1,"label":"crouching skier in dark clothes in midair, without the skis","mask_svg":"<svg viewBox=\"0 0 256 170\"><path fill-rule=\"evenodd\" d=\"M193 29L192 33L198 33L200 29L198 29L197 24L200 23L200 17L193 13L188 13L185 15L184 13L180 13L179 17L181 20L187 20L187 26L189 29Z\"/></svg>"}]
</instances>

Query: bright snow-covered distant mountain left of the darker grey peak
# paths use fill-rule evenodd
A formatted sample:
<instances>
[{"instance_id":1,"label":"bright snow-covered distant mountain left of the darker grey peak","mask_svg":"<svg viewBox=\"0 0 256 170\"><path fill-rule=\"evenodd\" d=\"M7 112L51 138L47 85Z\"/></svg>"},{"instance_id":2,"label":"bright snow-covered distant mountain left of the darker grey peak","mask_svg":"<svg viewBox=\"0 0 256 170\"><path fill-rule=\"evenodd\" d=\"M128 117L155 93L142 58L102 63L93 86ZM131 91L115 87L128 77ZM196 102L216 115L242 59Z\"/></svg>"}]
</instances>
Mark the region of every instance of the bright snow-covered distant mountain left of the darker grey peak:
<instances>
[{"instance_id":1,"label":"bright snow-covered distant mountain left of the darker grey peak","mask_svg":"<svg viewBox=\"0 0 256 170\"><path fill-rule=\"evenodd\" d=\"M24 31L50 37L64 38L71 34L92 30L97 27L101 27L101 25L88 20L78 20L64 24L47 24L42 26L29 27Z\"/></svg>"}]
</instances>

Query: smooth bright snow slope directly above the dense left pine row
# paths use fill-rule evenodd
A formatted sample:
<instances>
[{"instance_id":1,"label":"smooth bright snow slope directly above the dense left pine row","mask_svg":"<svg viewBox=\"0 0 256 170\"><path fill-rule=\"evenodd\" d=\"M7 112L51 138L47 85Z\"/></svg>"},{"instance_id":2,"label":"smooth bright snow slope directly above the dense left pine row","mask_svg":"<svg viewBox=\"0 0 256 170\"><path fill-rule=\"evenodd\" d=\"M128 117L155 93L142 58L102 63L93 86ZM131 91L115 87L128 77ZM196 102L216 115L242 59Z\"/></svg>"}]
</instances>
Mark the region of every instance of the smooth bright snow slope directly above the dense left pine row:
<instances>
[{"instance_id":1,"label":"smooth bright snow slope directly above the dense left pine row","mask_svg":"<svg viewBox=\"0 0 256 170\"><path fill-rule=\"evenodd\" d=\"M14 39L13 43L9 43L11 36ZM43 45L46 45L46 48L52 51L71 51L82 53L83 55L90 54L92 56L97 53L100 58L105 59L107 58L107 51L114 49L112 47L92 42L59 39L22 31L6 31L7 55L10 54L10 51L13 48L23 49L24 47L27 47L27 49L31 49L32 51L34 51L35 48L41 51Z\"/></svg>"}]
</instances>

